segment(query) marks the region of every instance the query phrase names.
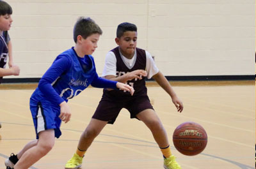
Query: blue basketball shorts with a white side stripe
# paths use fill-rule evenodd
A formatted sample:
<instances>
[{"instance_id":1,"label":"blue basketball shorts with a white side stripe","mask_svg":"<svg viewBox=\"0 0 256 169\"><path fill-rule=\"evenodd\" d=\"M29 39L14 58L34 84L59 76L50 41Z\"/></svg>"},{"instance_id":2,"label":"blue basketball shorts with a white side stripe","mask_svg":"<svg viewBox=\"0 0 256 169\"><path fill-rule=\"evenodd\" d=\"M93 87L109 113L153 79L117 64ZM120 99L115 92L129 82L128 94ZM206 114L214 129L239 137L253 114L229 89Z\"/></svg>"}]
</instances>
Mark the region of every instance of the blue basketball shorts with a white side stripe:
<instances>
[{"instance_id":1,"label":"blue basketball shorts with a white side stripe","mask_svg":"<svg viewBox=\"0 0 256 169\"><path fill-rule=\"evenodd\" d=\"M47 129L54 129L55 137L59 138L61 136L60 107L52 105L49 101L35 101L34 99L30 99L29 105L35 126L36 139L39 138L40 131Z\"/></svg>"}]
</instances>

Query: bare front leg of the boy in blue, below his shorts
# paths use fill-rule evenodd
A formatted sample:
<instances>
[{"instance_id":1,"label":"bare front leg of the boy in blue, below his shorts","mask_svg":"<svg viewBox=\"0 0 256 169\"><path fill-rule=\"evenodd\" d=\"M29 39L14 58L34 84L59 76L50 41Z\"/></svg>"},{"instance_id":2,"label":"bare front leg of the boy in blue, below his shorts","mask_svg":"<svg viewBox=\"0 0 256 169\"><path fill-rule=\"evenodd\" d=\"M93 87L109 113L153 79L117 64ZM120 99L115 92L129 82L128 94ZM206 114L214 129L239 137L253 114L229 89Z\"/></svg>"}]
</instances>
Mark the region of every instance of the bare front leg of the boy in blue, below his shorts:
<instances>
[{"instance_id":1,"label":"bare front leg of the boy in blue, below his shorts","mask_svg":"<svg viewBox=\"0 0 256 169\"><path fill-rule=\"evenodd\" d=\"M29 168L36 163L40 158L44 157L51 151L54 145L54 129L48 129L39 133L38 143L22 154L18 163L14 166L15 169Z\"/></svg>"}]
</instances>

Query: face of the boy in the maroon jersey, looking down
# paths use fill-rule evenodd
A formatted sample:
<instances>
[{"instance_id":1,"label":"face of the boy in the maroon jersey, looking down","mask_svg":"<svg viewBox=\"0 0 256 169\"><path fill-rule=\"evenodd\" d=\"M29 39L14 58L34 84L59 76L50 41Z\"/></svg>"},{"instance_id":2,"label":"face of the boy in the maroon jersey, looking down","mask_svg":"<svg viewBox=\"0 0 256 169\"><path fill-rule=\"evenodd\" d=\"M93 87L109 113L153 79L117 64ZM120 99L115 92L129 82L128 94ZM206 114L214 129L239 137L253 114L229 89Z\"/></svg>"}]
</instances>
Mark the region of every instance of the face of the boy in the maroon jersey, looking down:
<instances>
[{"instance_id":1,"label":"face of the boy in the maroon jersey, looking down","mask_svg":"<svg viewBox=\"0 0 256 169\"><path fill-rule=\"evenodd\" d=\"M119 45L122 55L132 58L137 46L137 32L126 31L123 36L115 39L116 44Z\"/></svg>"}]
</instances>

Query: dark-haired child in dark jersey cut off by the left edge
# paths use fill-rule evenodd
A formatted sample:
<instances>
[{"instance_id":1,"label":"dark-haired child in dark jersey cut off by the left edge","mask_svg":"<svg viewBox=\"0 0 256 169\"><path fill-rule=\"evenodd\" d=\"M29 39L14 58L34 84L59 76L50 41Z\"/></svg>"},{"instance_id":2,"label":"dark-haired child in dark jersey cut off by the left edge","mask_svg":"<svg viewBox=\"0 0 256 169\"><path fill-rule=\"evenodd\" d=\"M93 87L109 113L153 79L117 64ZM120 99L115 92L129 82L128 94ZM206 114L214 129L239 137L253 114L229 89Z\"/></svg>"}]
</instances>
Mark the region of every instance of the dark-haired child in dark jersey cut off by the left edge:
<instances>
[{"instance_id":1,"label":"dark-haired child in dark jersey cut off by the left edge","mask_svg":"<svg viewBox=\"0 0 256 169\"><path fill-rule=\"evenodd\" d=\"M11 15L12 7L10 4L6 3L5 1L0 1L0 83L4 76L17 76L20 73L19 66L12 65L9 66L10 68L5 68L8 52L10 51L8 50L9 39L6 31L8 31L12 25L13 20Z\"/></svg>"}]
</instances>

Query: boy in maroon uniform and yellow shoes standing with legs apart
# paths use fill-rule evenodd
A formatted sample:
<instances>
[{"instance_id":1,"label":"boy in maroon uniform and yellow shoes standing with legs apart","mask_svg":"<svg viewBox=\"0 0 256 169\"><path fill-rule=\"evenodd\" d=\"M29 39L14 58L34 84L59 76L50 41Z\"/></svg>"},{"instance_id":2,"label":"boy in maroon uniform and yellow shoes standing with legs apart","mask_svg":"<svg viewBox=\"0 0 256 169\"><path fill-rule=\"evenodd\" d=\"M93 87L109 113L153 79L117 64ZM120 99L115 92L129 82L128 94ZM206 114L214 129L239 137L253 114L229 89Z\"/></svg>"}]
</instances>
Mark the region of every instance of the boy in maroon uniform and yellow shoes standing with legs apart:
<instances>
[{"instance_id":1,"label":"boy in maroon uniform and yellow shoes standing with legs apart","mask_svg":"<svg viewBox=\"0 0 256 169\"><path fill-rule=\"evenodd\" d=\"M99 135L106 124L113 124L120 110L126 108L130 112L131 118L143 121L152 132L159 149L163 153L164 168L180 169L180 165L170 151L168 136L163 124L148 98L145 77L156 80L164 91L170 95L178 112L183 110L182 101L177 97L163 73L158 70L152 56L147 51L136 47L137 27L134 24L127 22L120 24L116 30L115 41L118 47L113 48L106 55L102 77L127 83L134 87L135 92L131 96L125 91L104 89L102 99L90 123L80 137L77 151L67 161L65 168L79 168L82 165L83 156L94 138ZM127 168L127 166L124 166L124 168Z\"/></svg>"}]
</instances>

